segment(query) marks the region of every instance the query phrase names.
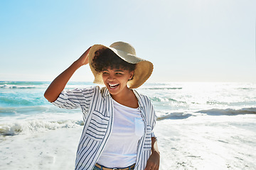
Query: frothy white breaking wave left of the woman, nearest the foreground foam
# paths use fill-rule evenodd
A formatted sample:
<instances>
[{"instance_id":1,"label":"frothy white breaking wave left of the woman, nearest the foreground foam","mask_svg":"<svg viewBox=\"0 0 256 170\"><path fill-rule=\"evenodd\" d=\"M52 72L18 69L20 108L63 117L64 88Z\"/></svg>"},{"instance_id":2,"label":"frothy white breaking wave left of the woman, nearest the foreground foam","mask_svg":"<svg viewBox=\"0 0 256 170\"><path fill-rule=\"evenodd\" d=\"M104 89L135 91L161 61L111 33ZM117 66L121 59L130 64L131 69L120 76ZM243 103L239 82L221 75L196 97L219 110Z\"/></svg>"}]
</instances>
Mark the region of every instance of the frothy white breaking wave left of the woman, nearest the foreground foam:
<instances>
[{"instance_id":1,"label":"frothy white breaking wave left of the woman, nearest the foreground foam","mask_svg":"<svg viewBox=\"0 0 256 170\"><path fill-rule=\"evenodd\" d=\"M15 123L0 124L0 135L19 135L30 132L43 132L59 128L75 128L84 125L82 120L23 120Z\"/></svg>"}]
</instances>

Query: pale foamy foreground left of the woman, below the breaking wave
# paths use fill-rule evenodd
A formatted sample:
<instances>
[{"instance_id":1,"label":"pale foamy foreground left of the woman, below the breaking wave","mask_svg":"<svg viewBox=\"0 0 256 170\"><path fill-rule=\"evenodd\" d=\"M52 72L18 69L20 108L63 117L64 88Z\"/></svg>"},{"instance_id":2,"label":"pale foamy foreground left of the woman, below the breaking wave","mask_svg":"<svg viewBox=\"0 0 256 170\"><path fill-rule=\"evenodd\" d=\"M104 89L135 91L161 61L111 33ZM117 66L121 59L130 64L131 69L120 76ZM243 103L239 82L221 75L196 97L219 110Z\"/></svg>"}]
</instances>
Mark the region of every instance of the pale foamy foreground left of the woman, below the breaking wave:
<instances>
[{"instance_id":1,"label":"pale foamy foreground left of the woman, below the breaking wave","mask_svg":"<svg viewBox=\"0 0 256 170\"><path fill-rule=\"evenodd\" d=\"M74 169L81 132L82 126L0 137L0 169Z\"/></svg>"}]
</instances>

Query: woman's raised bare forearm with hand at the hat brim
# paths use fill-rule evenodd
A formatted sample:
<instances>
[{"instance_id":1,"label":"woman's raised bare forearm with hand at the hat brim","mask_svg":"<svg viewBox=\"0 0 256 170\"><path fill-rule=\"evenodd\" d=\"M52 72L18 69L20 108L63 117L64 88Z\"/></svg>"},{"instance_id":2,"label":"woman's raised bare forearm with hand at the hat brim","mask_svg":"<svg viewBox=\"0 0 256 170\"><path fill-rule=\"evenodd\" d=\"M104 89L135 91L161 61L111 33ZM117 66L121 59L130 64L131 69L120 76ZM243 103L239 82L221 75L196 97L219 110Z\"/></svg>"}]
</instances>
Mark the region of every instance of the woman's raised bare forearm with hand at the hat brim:
<instances>
[{"instance_id":1,"label":"woman's raised bare forearm with hand at the hat brim","mask_svg":"<svg viewBox=\"0 0 256 170\"><path fill-rule=\"evenodd\" d=\"M45 98L53 102L60 95L61 91L65 88L65 85L68 83L69 79L73 76L75 71L79 69L82 65L88 64L88 53L90 51L90 47L81 55L81 57L73 62L73 64L65 69L58 77L56 77L53 82L51 82L50 86L46 90L44 96Z\"/></svg>"}]
</instances>

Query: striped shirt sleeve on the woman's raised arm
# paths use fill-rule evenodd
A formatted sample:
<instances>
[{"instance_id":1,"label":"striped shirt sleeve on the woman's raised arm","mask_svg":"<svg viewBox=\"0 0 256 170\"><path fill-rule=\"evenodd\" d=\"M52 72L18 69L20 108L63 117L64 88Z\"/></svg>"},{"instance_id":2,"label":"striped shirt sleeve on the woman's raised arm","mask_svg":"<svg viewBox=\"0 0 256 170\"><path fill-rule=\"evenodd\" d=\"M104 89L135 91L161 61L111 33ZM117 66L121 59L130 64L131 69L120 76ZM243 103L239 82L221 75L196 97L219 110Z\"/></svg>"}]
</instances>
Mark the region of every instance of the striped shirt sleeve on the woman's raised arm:
<instances>
[{"instance_id":1,"label":"striped shirt sleeve on the woman's raised arm","mask_svg":"<svg viewBox=\"0 0 256 170\"><path fill-rule=\"evenodd\" d=\"M95 92L95 87L89 89L63 90L60 96L53 101L53 105L59 108L74 109L82 108L88 110L90 101Z\"/></svg>"}]
</instances>

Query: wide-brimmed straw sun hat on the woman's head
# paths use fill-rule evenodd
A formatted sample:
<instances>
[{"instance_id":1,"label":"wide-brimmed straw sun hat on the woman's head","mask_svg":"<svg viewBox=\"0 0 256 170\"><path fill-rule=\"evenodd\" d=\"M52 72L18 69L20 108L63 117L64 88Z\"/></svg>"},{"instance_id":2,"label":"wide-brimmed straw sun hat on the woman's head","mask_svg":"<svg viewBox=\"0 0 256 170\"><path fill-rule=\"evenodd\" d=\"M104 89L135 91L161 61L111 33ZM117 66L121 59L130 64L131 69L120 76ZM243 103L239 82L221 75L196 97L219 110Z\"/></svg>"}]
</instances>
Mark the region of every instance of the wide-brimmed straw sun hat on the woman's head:
<instances>
[{"instance_id":1,"label":"wide-brimmed straw sun hat on the woman's head","mask_svg":"<svg viewBox=\"0 0 256 170\"><path fill-rule=\"evenodd\" d=\"M104 84L104 82L102 80L102 73L96 72L96 70L92 67L92 59L95 57L95 52L102 48L109 48L122 60L131 64L137 64L134 70L133 79L129 80L127 83L130 89L136 89L139 86L142 86L142 84L144 84L144 82L149 79L151 73L153 72L153 64L149 61L137 57L134 47L132 47L132 45L127 42L114 42L112 45L110 45L110 47L105 45L93 45L90 48L88 56L90 69L92 70L92 74L95 77L93 82L96 84Z\"/></svg>"}]
</instances>

